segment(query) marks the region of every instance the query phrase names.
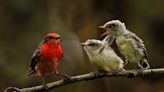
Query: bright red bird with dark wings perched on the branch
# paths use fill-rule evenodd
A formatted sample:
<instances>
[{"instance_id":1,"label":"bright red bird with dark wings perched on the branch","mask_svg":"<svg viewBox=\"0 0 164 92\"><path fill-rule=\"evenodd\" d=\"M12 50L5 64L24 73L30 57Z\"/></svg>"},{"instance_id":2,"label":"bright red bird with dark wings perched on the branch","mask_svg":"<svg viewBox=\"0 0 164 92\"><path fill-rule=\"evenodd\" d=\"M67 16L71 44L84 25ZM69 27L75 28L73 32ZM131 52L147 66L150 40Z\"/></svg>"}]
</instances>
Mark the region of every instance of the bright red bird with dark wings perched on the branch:
<instances>
[{"instance_id":1,"label":"bright red bird with dark wings perched on the branch","mask_svg":"<svg viewBox=\"0 0 164 92\"><path fill-rule=\"evenodd\" d=\"M30 70L27 72L27 76L35 74L42 77L45 89L48 89L44 78L46 74L53 73L61 75L58 73L58 65L63 56L62 48L60 46L60 38L61 37L57 33L49 33L44 36L44 40L32 56ZM68 79L66 75L61 76Z\"/></svg>"}]
</instances>

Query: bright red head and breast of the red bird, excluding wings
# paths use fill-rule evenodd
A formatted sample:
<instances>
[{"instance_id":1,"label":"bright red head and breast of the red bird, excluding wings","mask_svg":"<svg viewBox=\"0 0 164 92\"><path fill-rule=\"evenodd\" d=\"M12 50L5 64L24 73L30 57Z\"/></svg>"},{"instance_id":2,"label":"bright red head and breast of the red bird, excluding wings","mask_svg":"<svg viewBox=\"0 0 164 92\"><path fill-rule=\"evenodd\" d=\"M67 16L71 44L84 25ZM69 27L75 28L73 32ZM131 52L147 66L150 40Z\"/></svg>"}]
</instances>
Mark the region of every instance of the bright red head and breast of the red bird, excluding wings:
<instances>
[{"instance_id":1,"label":"bright red head and breast of the red bird, excluding wings","mask_svg":"<svg viewBox=\"0 0 164 92\"><path fill-rule=\"evenodd\" d=\"M44 36L43 44L39 47L44 59L51 60L55 57L60 60L62 57L60 38L61 37L57 33L48 33Z\"/></svg>"}]
</instances>

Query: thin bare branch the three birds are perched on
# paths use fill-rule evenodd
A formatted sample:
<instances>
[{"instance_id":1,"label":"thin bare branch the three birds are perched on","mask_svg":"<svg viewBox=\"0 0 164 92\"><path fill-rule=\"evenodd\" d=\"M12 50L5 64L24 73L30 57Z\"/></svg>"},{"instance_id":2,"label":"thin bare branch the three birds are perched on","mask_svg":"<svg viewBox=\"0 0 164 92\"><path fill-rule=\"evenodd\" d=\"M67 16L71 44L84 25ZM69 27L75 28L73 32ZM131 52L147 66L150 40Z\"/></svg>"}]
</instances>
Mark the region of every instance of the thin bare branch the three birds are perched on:
<instances>
[{"instance_id":1,"label":"thin bare branch the three birds are perched on","mask_svg":"<svg viewBox=\"0 0 164 92\"><path fill-rule=\"evenodd\" d=\"M144 75L143 75L143 73L144 73ZM118 74L116 74L116 73L100 73L99 76L96 76L96 74L94 72L91 72L91 73L87 73L87 74L73 76L73 77L71 77L70 81L64 81L62 79L62 80L58 80L58 81L55 81L52 83L48 83L47 85L50 90L50 89L65 86L68 84L76 83L79 81L88 81L88 80L94 80L94 79L104 78L104 77L131 78L131 77L148 76L148 75L154 75L154 74L164 74L164 68L148 69L148 70L144 70L143 73L141 72L141 70L126 70L126 71L119 72ZM11 92L11 90L15 91L15 92L40 92L40 91L43 91L44 88L42 85L29 87L29 88L8 87L4 90L4 92Z\"/></svg>"}]
</instances>

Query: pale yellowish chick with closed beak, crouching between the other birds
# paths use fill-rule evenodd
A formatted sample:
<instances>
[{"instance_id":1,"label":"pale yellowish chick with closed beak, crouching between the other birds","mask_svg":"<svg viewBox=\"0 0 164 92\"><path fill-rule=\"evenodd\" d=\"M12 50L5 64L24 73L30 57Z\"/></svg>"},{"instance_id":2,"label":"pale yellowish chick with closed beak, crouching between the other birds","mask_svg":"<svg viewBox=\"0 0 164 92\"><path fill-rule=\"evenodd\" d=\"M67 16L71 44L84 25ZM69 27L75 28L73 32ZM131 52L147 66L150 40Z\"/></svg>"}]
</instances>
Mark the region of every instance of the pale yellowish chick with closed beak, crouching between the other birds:
<instances>
[{"instance_id":1,"label":"pale yellowish chick with closed beak, crouching between the other birds","mask_svg":"<svg viewBox=\"0 0 164 92\"><path fill-rule=\"evenodd\" d=\"M108 37L102 41L88 39L82 43L84 50L87 53L89 60L94 64L99 72L114 72L117 73L123 70L123 60L117 56L115 51L108 45Z\"/></svg>"}]
</instances>

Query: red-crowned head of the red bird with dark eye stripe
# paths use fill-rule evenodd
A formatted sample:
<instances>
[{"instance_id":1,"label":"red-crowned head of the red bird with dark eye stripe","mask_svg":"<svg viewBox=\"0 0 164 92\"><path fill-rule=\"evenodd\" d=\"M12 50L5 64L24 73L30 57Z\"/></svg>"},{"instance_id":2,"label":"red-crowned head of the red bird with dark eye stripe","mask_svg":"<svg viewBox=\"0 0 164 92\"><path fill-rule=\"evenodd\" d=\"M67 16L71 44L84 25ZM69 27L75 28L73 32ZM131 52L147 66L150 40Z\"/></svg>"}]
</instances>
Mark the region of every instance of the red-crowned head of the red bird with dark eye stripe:
<instances>
[{"instance_id":1,"label":"red-crowned head of the red bird with dark eye stripe","mask_svg":"<svg viewBox=\"0 0 164 92\"><path fill-rule=\"evenodd\" d=\"M47 35L44 36L44 42L56 42L56 43L60 43L60 35L57 33L48 33Z\"/></svg>"}]
</instances>

